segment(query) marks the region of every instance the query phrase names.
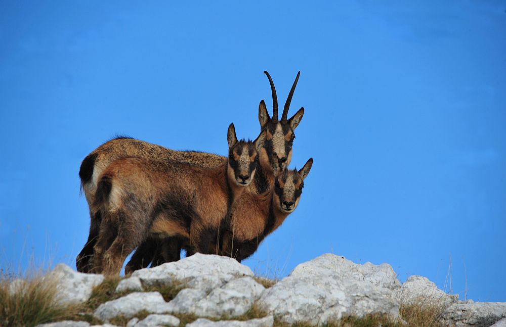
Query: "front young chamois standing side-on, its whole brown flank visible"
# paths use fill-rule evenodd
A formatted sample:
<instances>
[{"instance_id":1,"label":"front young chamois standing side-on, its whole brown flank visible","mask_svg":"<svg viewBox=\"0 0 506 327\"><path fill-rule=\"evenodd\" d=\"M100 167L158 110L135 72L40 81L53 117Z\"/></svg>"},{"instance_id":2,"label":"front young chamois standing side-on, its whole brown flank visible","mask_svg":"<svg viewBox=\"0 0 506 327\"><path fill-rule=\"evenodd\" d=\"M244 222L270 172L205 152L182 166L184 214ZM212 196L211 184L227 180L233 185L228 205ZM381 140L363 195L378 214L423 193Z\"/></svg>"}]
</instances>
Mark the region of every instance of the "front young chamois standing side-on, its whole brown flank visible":
<instances>
[{"instance_id":1,"label":"front young chamois standing side-on, its whole brown flank visible","mask_svg":"<svg viewBox=\"0 0 506 327\"><path fill-rule=\"evenodd\" d=\"M228 129L229 156L216 168L147 158L111 163L99 177L94 209L102 222L94 272L118 274L124 259L150 235L179 236L209 253L222 220L255 176L265 133L237 141Z\"/></svg>"}]
</instances>

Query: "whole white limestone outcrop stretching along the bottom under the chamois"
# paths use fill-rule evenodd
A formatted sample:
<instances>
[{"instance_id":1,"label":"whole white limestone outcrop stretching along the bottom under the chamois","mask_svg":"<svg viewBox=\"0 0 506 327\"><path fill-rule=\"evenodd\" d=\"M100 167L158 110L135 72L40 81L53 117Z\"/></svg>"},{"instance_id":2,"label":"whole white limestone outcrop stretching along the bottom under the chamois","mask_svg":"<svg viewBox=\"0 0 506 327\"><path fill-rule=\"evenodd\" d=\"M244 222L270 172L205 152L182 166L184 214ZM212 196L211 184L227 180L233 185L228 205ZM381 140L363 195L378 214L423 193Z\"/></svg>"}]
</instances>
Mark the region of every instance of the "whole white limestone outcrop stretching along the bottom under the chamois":
<instances>
[{"instance_id":1,"label":"whole white limestone outcrop stretching along the bottom under the chamois","mask_svg":"<svg viewBox=\"0 0 506 327\"><path fill-rule=\"evenodd\" d=\"M104 276L75 272L59 264L48 274L58 281L58 301L84 303ZM177 317L199 317L187 324L200 326L262 326L274 321L290 325L323 325L342 317L383 313L399 316L403 305L437 305L439 321L448 326L506 326L506 303L459 301L439 290L429 279L411 276L404 284L389 264L356 264L344 257L324 254L298 265L285 278L266 288L253 272L227 257L195 254L177 262L142 269L122 279L119 298L100 304L93 317L104 325L118 316L127 326L178 326ZM19 283L19 282L18 282ZM13 283L15 288L16 282ZM156 288L178 286L165 301ZM269 286L269 285L267 285ZM261 318L234 320L256 310ZM138 313L143 312L139 318ZM225 319L226 320L220 320ZM85 321L60 321L40 326L89 326Z\"/></svg>"}]
</instances>

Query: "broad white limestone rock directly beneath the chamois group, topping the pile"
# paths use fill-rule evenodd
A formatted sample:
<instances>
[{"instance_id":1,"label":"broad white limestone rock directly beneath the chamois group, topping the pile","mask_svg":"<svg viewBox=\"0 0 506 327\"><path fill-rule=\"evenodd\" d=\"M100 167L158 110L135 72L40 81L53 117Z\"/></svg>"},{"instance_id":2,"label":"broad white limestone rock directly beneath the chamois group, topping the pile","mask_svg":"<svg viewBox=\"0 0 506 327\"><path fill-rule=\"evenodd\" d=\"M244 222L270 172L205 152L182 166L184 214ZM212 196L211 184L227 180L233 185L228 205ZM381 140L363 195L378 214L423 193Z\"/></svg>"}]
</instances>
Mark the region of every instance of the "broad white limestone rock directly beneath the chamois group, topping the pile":
<instances>
[{"instance_id":1,"label":"broad white limestone rock directly beneath the chamois group, topping the pile","mask_svg":"<svg viewBox=\"0 0 506 327\"><path fill-rule=\"evenodd\" d=\"M143 285L160 286L177 281L208 293L232 279L253 276L253 272L235 259L196 253L176 262L137 270L132 276L139 277Z\"/></svg>"}]
</instances>

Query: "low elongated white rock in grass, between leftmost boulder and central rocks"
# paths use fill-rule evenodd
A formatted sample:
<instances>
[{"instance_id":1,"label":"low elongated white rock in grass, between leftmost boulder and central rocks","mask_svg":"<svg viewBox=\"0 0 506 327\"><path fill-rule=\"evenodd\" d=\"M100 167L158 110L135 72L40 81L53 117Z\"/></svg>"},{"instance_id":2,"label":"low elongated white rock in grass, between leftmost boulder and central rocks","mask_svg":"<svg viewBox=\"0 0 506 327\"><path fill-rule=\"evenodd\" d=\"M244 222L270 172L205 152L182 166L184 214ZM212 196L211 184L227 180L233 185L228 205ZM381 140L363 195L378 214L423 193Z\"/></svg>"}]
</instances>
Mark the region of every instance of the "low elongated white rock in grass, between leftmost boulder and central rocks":
<instances>
[{"instance_id":1,"label":"low elongated white rock in grass, between leftmost boulder and central rocks","mask_svg":"<svg viewBox=\"0 0 506 327\"><path fill-rule=\"evenodd\" d=\"M165 313L169 311L169 307L158 292L134 292L119 299L102 303L95 310L93 316L109 322L109 319L116 316L131 318L143 310L150 313Z\"/></svg>"}]
</instances>

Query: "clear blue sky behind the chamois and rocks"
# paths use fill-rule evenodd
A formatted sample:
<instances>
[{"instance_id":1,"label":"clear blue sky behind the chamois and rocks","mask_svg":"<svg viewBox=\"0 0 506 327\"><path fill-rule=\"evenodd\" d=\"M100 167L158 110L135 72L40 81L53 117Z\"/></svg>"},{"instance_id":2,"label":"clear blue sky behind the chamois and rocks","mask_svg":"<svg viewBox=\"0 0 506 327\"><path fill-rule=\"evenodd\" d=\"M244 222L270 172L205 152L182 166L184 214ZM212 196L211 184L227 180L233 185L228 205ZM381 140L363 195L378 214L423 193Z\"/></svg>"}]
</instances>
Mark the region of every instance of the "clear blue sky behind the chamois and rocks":
<instances>
[{"instance_id":1,"label":"clear blue sky behind the chamois and rocks","mask_svg":"<svg viewBox=\"0 0 506 327\"><path fill-rule=\"evenodd\" d=\"M116 133L225 154L297 71L297 210L245 261L333 252L506 301L506 5L0 4L0 266L74 265L81 160ZM451 259L450 259L451 258ZM449 284L449 283L447 283ZM449 285L446 286L449 291Z\"/></svg>"}]
</instances>

